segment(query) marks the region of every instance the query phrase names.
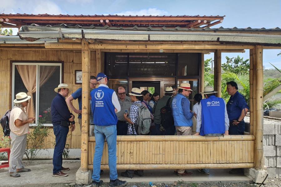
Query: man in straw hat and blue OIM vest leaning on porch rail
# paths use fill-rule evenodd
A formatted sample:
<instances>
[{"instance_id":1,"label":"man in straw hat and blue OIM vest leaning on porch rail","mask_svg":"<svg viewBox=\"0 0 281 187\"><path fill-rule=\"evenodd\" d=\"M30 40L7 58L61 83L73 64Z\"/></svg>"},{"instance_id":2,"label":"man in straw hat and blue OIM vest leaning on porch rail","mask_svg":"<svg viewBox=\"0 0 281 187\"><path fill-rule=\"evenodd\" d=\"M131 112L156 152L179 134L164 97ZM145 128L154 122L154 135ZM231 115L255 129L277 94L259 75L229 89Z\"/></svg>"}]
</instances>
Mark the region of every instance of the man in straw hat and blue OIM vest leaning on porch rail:
<instances>
[{"instance_id":1,"label":"man in straw hat and blue OIM vest leaning on porch rail","mask_svg":"<svg viewBox=\"0 0 281 187\"><path fill-rule=\"evenodd\" d=\"M204 88L206 99L202 99L197 112L197 126L194 135L221 136L228 135L229 119L226 103L223 98L215 96L216 91L212 86ZM209 175L210 169L198 169L200 173Z\"/></svg>"}]
</instances>

